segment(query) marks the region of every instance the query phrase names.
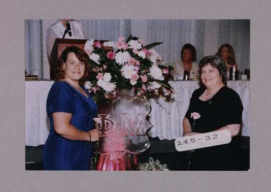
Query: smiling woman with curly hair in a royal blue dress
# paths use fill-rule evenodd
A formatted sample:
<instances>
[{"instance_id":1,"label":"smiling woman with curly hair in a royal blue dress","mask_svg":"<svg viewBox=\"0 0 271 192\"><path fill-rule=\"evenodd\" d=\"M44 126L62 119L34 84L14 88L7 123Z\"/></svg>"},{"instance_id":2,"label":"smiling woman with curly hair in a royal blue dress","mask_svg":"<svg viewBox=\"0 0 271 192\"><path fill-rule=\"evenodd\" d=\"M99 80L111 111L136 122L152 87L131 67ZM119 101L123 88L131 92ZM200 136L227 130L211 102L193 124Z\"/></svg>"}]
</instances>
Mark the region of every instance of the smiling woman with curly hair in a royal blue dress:
<instances>
[{"instance_id":1,"label":"smiling woman with curly hair in a royal blue dress","mask_svg":"<svg viewBox=\"0 0 271 192\"><path fill-rule=\"evenodd\" d=\"M61 54L55 83L46 103L50 133L43 149L44 170L89 170L93 142L101 132L94 128L98 107L84 88L90 59L76 46Z\"/></svg>"}]
</instances>

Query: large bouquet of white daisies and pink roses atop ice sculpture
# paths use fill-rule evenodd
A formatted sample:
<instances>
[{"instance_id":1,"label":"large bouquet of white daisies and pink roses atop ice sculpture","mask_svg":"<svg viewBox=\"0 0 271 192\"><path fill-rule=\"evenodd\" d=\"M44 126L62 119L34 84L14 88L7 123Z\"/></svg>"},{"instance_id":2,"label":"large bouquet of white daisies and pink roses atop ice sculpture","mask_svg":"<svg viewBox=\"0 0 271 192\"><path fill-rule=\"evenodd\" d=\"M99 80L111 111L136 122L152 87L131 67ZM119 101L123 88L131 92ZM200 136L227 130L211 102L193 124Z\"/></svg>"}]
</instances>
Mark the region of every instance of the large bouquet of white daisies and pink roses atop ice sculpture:
<instances>
[{"instance_id":1,"label":"large bouquet of white daisies and pink roses atop ice sculpture","mask_svg":"<svg viewBox=\"0 0 271 192\"><path fill-rule=\"evenodd\" d=\"M104 95L116 95L124 89L137 90L138 96L143 98L152 94L165 98L163 96L172 94L173 89L165 80L171 78L169 70L164 69L165 65L158 64L161 57L153 49L161 43L143 46L143 40L132 35L126 41L124 37L119 37L116 42L89 39L84 50L91 58L92 70L88 81L92 86L88 90L93 99L99 103ZM110 78L105 78L105 74ZM162 89L167 91L159 92Z\"/></svg>"}]
</instances>

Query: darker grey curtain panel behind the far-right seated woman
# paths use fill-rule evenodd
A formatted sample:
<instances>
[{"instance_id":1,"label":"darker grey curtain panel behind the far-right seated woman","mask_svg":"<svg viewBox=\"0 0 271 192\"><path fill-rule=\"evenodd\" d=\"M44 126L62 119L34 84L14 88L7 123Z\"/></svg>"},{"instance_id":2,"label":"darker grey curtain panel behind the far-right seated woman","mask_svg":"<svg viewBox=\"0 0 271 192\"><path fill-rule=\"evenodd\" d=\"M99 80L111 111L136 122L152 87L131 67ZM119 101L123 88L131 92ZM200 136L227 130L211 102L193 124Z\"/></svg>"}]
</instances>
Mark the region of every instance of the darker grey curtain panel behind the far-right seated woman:
<instances>
[{"instance_id":1,"label":"darker grey curtain panel behind the far-right seated woman","mask_svg":"<svg viewBox=\"0 0 271 192\"><path fill-rule=\"evenodd\" d=\"M241 71L250 68L250 20L220 20L219 46L228 43L235 51Z\"/></svg>"}]
</instances>

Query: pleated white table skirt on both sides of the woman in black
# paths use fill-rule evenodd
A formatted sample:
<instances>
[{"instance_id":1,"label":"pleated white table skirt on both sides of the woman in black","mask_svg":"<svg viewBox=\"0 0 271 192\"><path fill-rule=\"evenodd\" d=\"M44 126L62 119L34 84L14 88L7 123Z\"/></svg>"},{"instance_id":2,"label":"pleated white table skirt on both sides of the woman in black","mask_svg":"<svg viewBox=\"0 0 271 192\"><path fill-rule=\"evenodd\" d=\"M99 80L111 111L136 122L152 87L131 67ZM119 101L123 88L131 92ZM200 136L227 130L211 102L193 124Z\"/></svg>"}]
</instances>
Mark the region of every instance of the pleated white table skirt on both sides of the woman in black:
<instances>
[{"instance_id":1,"label":"pleated white table skirt on both sides of the woman in black","mask_svg":"<svg viewBox=\"0 0 271 192\"><path fill-rule=\"evenodd\" d=\"M173 102L162 98L150 99L152 107L150 123L153 128L149 136L159 139L175 139L183 136L182 121L189 107L192 93L200 88L199 81L169 81L176 94ZM242 135L249 136L249 97L250 81L227 81L227 86L235 90L243 104Z\"/></svg>"}]
</instances>

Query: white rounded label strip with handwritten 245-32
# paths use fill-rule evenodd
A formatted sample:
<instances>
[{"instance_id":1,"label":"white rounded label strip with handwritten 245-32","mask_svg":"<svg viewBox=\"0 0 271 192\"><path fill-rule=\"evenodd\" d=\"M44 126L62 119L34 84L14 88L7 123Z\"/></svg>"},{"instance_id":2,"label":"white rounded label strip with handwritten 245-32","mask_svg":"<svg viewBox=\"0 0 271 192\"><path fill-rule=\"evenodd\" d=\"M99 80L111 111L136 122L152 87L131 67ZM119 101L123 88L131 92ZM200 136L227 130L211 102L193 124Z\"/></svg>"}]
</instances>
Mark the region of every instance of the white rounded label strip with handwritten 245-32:
<instances>
[{"instance_id":1,"label":"white rounded label strip with handwritten 245-32","mask_svg":"<svg viewBox=\"0 0 271 192\"><path fill-rule=\"evenodd\" d=\"M227 144L230 143L231 140L232 137L229 130L217 130L176 138L175 148L177 151L187 151L203 147Z\"/></svg>"}]
</instances>

